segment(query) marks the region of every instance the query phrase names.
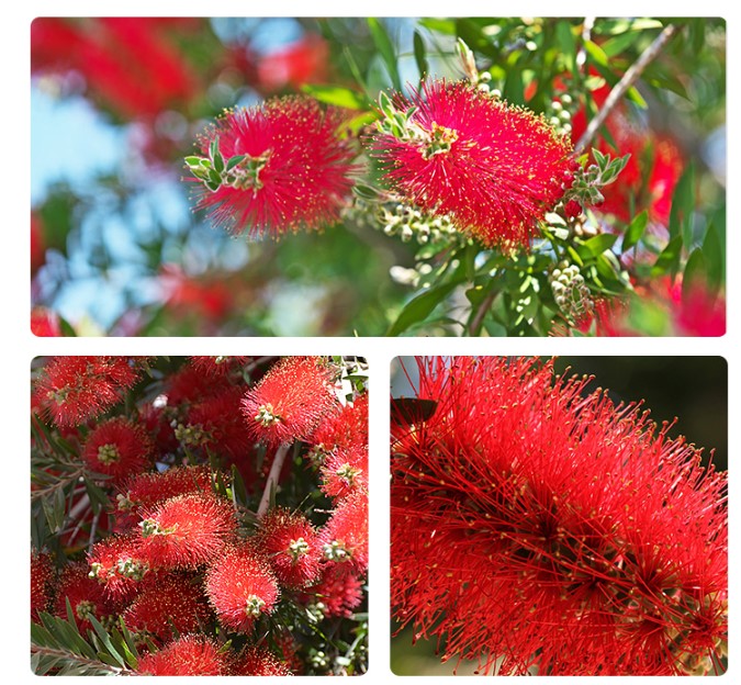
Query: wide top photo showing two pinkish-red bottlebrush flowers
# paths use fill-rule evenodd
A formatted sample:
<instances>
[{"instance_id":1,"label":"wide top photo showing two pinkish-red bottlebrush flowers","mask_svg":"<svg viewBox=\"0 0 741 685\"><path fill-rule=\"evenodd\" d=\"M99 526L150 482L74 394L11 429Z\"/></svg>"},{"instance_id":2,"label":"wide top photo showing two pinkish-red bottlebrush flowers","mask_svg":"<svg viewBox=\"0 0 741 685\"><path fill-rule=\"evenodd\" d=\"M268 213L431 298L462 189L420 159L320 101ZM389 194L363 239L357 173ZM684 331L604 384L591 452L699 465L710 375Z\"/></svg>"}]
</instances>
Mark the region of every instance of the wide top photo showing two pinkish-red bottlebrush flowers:
<instances>
[{"instance_id":1,"label":"wide top photo showing two pinkish-red bottlebrush flowers","mask_svg":"<svg viewBox=\"0 0 741 685\"><path fill-rule=\"evenodd\" d=\"M726 333L721 18L30 26L36 336Z\"/></svg>"}]
</instances>

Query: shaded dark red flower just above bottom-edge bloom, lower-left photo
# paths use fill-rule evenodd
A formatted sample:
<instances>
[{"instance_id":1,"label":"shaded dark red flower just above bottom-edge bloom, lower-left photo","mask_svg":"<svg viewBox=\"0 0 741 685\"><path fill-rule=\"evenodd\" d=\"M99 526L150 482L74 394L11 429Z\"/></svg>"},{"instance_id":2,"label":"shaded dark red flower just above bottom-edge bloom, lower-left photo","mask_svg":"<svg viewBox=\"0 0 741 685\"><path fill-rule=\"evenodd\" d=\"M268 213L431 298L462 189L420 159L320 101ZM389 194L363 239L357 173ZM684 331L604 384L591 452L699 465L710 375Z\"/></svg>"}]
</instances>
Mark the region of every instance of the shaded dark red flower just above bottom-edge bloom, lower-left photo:
<instances>
[{"instance_id":1,"label":"shaded dark red flower just above bottom-edge bloom, lower-left photo","mask_svg":"<svg viewBox=\"0 0 741 685\"><path fill-rule=\"evenodd\" d=\"M137 595L123 613L126 627L160 640L199 630L210 609L195 579L168 574Z\"/></svg>"}]
</instances>

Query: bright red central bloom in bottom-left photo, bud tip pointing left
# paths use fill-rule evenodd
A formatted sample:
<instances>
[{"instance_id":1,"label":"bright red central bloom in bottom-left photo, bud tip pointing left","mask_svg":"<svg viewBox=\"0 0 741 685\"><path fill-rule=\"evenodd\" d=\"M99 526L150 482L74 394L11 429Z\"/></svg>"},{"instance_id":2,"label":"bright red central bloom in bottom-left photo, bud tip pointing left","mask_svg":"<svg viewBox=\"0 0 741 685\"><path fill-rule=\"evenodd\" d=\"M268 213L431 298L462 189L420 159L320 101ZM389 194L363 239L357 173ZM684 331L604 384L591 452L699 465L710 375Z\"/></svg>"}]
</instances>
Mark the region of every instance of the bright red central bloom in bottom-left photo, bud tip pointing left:
<instances>
[{"instance_id":1,"label":"bright red central bloom in bottom-left photo, bud tip pointing left","mask_svg":"<svg viewBox=\"0 0 741 685\"><path fill-rule=\"evenodd\" d=\"M139 552L153 566L194 569L223 551L237 520L226 499L199 493L162 502L139 526Z\"/></svg>"}]
</instances>

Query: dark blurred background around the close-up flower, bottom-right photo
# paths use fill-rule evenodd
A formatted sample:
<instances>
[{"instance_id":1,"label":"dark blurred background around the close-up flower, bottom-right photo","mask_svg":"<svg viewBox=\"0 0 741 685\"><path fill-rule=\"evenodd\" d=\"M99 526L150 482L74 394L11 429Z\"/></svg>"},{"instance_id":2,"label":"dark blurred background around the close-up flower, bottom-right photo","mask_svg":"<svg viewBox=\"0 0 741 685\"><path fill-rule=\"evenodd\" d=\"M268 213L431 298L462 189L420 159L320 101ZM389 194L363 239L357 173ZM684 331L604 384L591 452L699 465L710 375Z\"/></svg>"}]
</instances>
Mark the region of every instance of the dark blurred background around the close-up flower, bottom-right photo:
<instances>
[{"instance_id":1,"label":"dark blurred background around the close-up flower, bottom-right photo","mask_svg":"<svg viewBox=\"0 0 741 685\"><path fill-rule=\"evenodd\" d=\"M706 459L714 452L717 469L728 469L728 363L722 357L558 357L554 369L559 374L593 375L587 392L603 388L616 403L642 402L658 424L676 418L670 437L685 436L704 448ZM394 359L391 375L392 396L415 396L413 357ZM392 621L392 636L397 630ZM441 664L435 641L413 644L413 638L407 628L391 640L391 670L396 675L452 674L454 660ZM462 662L458 674L472 675L476 666Z\"/></svg>"}]
</instances>

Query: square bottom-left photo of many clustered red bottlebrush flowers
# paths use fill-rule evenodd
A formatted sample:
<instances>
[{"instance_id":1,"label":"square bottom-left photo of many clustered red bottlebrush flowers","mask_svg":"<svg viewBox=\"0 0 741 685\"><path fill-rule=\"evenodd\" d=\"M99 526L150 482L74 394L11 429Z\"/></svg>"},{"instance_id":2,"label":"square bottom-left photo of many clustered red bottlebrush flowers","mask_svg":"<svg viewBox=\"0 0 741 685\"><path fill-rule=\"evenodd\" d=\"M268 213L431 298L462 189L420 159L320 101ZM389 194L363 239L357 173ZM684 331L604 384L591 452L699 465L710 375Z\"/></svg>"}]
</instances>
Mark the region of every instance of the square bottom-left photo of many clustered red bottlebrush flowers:
<instances>
[{"instance_id":1,"label":"square bottom-left photo of many clustered red bottlebrush flowers","mask_svg":"<svg viewBox=\"0 0 741 685\"><path fill-rule=\"evenodd\" d=\"M368 669L362 357L37 357L35 675Z\"/></svg>"}]
</instances>

